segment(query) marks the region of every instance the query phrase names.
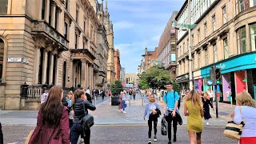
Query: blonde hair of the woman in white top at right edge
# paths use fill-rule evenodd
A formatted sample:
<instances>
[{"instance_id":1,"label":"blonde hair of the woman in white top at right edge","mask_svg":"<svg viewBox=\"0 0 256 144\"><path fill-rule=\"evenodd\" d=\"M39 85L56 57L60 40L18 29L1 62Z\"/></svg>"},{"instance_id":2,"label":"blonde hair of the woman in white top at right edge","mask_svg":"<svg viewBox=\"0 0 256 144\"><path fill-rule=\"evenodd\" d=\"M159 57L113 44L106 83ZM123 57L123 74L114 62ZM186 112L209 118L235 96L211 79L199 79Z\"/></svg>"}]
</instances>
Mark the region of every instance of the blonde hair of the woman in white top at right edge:
<instances>
[{"instance_id":1,"label":"blonde hair of the woman in white top at right edge","mask_svg":"<svg viewBox=\"0 0 256 144\"><path fill-rule=\"evenodd\" d=\"M254 99L251 98L251 95L246 90L244 90L242 93L239 93L235 100L239 106L256 106Z\"/></svg>"}]
</instances>

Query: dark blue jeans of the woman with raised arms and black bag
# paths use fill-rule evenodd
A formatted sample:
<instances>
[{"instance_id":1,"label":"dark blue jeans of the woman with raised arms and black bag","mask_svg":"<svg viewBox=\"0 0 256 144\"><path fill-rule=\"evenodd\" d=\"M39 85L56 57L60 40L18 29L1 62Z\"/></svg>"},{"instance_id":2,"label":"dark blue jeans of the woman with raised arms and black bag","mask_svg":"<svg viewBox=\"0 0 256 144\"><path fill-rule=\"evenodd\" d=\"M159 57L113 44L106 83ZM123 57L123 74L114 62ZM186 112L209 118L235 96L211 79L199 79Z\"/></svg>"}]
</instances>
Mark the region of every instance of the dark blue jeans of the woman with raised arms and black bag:
<instances>
[{"instance_id":1,"label":"dark blue jeans of the woman with raised arms and black bag","mask_svg":"<svg viewBox=\"0 0 256 144\"><path fill-rule=\"evenodd\" d=\"M86 134L83 134L81 123L74 123L70 131L71 144L77 144L80 135L82 136L85 144L90 144L90 130L86 131L85 133ZM84 135L86 136L83 137Z\"/></svg>"}]
</instances>

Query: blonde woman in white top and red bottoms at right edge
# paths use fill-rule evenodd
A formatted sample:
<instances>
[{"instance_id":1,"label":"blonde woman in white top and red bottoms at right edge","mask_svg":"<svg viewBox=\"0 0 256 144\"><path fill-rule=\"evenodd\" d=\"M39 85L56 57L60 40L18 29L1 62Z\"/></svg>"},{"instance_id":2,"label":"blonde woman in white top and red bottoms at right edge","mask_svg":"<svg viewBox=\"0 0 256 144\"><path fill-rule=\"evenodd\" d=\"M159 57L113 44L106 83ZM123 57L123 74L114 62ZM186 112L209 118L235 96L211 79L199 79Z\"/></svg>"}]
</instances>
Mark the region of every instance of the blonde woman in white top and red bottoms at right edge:
<instances>
[{"instance_id":1,"label":"blonde woman in white top and red bottoms at right edge","mask_svg":"<svg viewBox=\"0 0 256 144\"><path fill-rule=\"evenodd\" d=\"M240 144L255 144L256 143L256 104L251 95L243 91L235 98L237 106L234 108L234 112L231 117L234 118L234 122L240 124L242 120L245 121L243 127Z\"/></svg>"}]
</instances>

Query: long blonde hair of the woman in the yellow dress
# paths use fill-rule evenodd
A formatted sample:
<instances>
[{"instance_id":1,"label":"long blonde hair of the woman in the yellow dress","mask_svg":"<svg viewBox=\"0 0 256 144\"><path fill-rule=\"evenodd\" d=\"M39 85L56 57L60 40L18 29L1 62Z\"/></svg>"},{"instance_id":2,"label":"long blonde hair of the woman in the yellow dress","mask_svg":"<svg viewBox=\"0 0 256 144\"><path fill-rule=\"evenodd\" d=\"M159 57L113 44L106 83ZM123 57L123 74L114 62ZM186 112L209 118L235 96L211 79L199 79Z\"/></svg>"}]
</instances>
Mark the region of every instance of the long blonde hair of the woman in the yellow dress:
<instances>
[{"instance_id":1,"label":"long blonde hair of the woman in the yellow dress","mask_svg":"<svg viewBox=\"0 0 256 144\"><path fill-rule=\"evenodd\" d=\"M192 101L192 105L193 107L198 105L198 106L202 106L202 98L200 96L200 94L198 94L198 90L191 90L189 94L187 94L186 101ZM202 108L202 107L201 107ZM194 107L195 109L195 107Z\"/></svg>"}]
</instances>

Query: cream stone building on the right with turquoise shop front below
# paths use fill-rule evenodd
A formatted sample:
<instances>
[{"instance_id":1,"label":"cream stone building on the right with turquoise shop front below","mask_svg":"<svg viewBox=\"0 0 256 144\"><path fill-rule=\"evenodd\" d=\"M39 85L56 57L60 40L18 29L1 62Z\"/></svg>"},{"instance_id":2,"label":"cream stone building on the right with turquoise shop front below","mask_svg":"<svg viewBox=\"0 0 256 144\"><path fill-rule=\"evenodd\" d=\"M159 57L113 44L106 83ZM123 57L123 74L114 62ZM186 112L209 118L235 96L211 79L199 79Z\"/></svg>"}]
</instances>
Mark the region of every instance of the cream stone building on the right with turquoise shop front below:
<instances>
[{"instance_id":1,"label":"cream stone building on the right with turquoise shop front below","mask_svg":"<svg viewBox=\"0 0 256 144\"><path fill-rule=\"evenodd\" d=\"M254 0L195 0L183 4L176 20L190 24L187 30L178 30L178 77L182 88L189 82L189 37L191 38L194 88L199 92L214 89L207 85L212 66L221 68L222 80L216 91L222 92L223 102L247 90L253 98L256 93L256 2ZM189 22L189 19L190 22ZM192 26L191 26L192 25ZM256 100L256 98L255 98Z\"/></svg>"}]
</instances>

